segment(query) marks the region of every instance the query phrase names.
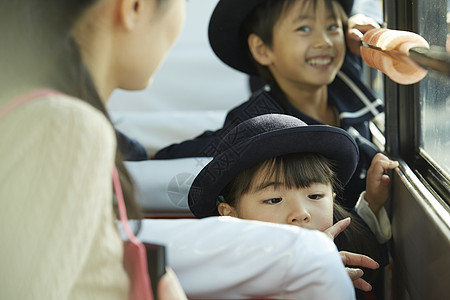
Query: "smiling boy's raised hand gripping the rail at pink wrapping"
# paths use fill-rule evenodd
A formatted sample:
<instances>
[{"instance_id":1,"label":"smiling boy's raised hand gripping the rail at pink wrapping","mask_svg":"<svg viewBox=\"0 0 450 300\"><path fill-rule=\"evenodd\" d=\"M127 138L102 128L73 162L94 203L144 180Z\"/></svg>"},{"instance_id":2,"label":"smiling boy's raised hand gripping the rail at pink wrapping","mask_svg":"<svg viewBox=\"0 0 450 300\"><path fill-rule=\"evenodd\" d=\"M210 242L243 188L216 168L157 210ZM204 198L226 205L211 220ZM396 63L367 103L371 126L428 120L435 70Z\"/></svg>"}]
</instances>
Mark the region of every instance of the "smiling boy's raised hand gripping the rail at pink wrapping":
<instances>
[{"instance_id":1,"label":"smiling boy's raised hand gripping the rail at pink wrapping","mask_svg":"<svg viewBox=\"0 0 450 300\"><path fill-rule=\"evenodd\" d=\"M346 33L348 49L357 55L361 55L359 47L364 33L370 29L380 28L380 25L374 19L363 14L356 14L348 19L348 30Z\"/></svg>"}]
</instances>

